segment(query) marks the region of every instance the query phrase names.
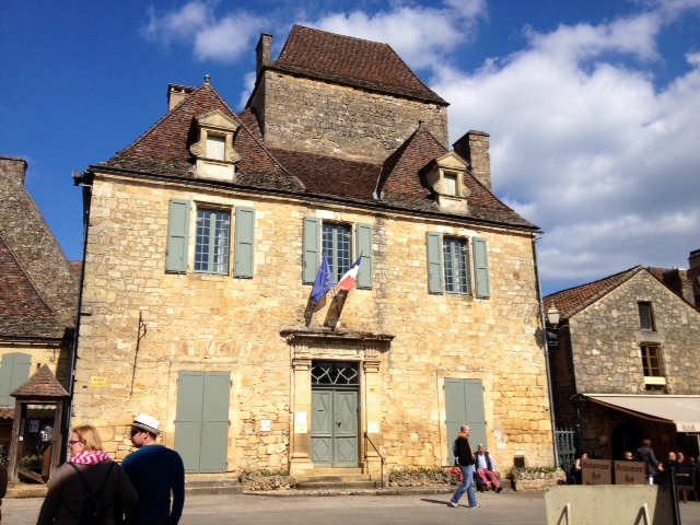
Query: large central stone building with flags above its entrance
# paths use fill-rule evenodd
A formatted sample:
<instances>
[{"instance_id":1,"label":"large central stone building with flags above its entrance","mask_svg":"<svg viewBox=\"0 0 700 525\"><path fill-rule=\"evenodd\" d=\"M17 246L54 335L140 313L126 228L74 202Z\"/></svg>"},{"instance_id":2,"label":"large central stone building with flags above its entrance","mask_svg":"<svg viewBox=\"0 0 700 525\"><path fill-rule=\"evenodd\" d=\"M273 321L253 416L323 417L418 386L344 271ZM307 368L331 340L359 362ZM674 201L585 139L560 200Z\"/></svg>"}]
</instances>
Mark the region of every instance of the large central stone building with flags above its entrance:
<instances>
[{"instance_id":1,"label":"large central stone building with flags above its entrance","mask_svg":"<svg viewBox=\"0 0 700 525\"><path fill-rule=\"evenodd\" d=\"M82 177L75 421L130 450L162 421L189 472L377 474L553 462L534 238L491 191L489 136L385 44L295 26L233 112L210 79ZM337 283L312 299L323 257ZM539 329L538 329L539 326Z\"/></svg>"}]
</instances>

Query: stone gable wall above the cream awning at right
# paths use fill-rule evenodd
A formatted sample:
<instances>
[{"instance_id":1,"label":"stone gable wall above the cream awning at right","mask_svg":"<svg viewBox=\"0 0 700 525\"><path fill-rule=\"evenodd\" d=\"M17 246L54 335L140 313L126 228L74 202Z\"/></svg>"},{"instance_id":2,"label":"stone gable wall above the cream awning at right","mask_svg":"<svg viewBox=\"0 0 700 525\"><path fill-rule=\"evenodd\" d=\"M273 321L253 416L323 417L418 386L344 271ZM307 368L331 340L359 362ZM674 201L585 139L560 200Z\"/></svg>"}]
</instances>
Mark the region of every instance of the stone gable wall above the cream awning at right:
<instances>
[{"instance_id":1,"label":"stone gable wall above the cream awning at right","mask_svg":"<svg viewBox=\"0 0 700 525\"><path fill-rule=\"evenodd\" d=\"M640 328L639 302L652 304L655 330ZM630 280L569 319L579 393L648 394L640 345L661 346L667 394L700 394L700 312L651 273Z\"/></svg>"}]
</instances>

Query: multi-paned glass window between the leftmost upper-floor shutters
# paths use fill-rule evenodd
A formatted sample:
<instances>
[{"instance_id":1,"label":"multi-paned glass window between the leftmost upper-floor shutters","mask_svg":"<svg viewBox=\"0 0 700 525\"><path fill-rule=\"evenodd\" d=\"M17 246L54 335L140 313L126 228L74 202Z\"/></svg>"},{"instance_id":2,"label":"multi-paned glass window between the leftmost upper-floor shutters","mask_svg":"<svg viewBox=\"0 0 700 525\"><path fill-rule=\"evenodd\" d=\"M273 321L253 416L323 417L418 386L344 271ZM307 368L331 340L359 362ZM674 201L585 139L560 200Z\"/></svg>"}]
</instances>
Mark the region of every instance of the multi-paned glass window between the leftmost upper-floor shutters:
<instances>
[{"instance_id":1,"label":"multi-paned glass window between the leftmost upper-floor shutters","mask_svg":"<svg viewBox=\"0 0 700 525\"><path fill-rule=\"evenodd\" d=\"M221 275L229 273L230 232L230 213L197 210L195 271Z\"/></svg>"}]
</instances>

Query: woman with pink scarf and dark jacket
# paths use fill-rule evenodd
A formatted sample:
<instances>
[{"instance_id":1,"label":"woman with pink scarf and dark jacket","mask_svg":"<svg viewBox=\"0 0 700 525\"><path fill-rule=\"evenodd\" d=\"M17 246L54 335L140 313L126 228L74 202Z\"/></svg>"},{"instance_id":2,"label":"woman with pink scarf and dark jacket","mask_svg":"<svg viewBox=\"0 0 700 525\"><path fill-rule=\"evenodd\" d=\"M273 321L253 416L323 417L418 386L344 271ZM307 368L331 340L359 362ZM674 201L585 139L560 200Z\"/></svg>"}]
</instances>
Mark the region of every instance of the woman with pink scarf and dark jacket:
<instances>
[{"instance_id":1,"label":"woman with pink scarf and dark jacket","mask_svg":"<svg viewBox=\"0 0 700 525\"><path fill-rule=\"evenodd\" d=\"M136 509L139 500L136 489L121 467L102 450L102 440L94 427L74 427L68 446L71 457L49 480L37 525L77 523L90 500L88 487L93 493L104 487L105 525L117 523L115 506L120 512Z\"/></svg>"}]
</instances>

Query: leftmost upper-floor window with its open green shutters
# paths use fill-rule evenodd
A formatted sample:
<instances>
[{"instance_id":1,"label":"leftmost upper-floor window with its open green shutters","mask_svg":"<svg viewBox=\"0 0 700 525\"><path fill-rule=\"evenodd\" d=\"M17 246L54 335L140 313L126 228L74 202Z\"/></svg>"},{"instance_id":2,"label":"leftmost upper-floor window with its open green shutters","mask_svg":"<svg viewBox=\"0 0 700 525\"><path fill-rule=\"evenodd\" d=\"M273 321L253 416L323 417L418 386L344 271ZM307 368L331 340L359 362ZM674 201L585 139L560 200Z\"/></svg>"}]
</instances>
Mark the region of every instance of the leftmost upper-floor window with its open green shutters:
<instances>
[{"instance_id":1,"label":"leftmost upper-floor window with its open green shutters","mask_svg":"<svg viewBox=\"0 0 700 525\"><path fill-rule=\"evenodd\" d=\"M252 278L255 271L255 209L198 203L191 240L194 260L189 260L191 208L189 200L171 199L165 271L187 273L188 268L192 268L195 273L228 275L233 269L233 277Z\"/></svg>"}]
</instances>

